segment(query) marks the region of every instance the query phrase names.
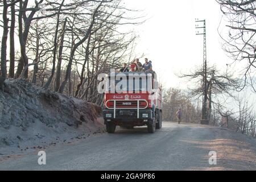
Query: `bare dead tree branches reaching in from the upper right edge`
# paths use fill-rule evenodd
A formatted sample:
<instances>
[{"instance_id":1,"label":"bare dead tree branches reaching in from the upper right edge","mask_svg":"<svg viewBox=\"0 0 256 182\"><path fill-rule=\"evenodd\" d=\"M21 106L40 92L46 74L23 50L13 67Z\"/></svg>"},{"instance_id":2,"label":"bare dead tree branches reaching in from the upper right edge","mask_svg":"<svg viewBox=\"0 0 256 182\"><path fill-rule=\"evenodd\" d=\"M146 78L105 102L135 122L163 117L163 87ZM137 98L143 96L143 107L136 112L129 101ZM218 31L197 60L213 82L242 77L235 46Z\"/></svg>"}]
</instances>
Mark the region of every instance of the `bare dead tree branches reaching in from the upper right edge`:
<instances>
[{"instance_id":1,"label":"bare dead tree branches reaching in from the upper right edge","mask_svg":"<svg viewBox=\"0 0 256 182\"><path fill-rule=\"evenodd\" d=\"M256 72L256 1L253 0L216 0L224 14L226 31L221 35L223 49L236 62L242 62L243 82L240 91L251 85L254 91ZM228 36L226 36L228 35Z\"/></svg>"}]
</instances>

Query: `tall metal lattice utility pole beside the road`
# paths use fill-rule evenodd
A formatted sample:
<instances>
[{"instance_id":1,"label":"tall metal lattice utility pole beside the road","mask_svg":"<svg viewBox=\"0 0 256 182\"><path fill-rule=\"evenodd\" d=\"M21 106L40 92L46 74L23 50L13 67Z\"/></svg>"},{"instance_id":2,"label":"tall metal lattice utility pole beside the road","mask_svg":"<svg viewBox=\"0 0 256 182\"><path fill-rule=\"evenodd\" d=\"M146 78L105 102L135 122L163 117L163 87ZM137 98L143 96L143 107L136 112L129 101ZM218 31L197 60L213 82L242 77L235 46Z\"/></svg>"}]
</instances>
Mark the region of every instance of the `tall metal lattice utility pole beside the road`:
<instances>
[{"instance_id":1,"label":"tall metal lattice utility pole beside the road","mask_svg":"<svg viewBox=\"0 0 256 182\"><path fill-rule=\"evenodd\" d=\"M203 106L201 124L208 125L208 110L207 110L207 41L206 41L206 23L204 20L196 19L196 23L203 23L203 26L196 25L197 29L203 29L203 32L196 31L196 35L204 35L204 50L203 50Z\"/></svg>"}]
</instances>

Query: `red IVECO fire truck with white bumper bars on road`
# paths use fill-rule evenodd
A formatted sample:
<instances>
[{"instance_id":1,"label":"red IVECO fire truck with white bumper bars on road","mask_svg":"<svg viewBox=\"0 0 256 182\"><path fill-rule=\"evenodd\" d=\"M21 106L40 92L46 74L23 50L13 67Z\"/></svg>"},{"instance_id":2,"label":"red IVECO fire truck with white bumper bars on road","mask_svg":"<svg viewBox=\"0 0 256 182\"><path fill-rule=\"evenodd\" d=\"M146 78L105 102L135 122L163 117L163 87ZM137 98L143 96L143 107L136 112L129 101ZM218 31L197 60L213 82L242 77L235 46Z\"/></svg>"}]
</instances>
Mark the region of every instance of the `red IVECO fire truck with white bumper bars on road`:
<instances>
[{"instance_id":1,"label":"red IVECO fire truck with white bumper bars on road","mask_svg":"<svg viewBox=\"0 0 256 182\"><path fill-rule=\"evenodd\" d=\"M125 76L125 81L120 80L120 75ZM127 129L147 126L148 133L162 128L162 89L156 82L156 74L127 72L108 76L109 92L105 92L103 111L108 133L114 133L116 126ZM121 81L127 85L114 91L110 89Z\"/></svg>"}]
</instances>

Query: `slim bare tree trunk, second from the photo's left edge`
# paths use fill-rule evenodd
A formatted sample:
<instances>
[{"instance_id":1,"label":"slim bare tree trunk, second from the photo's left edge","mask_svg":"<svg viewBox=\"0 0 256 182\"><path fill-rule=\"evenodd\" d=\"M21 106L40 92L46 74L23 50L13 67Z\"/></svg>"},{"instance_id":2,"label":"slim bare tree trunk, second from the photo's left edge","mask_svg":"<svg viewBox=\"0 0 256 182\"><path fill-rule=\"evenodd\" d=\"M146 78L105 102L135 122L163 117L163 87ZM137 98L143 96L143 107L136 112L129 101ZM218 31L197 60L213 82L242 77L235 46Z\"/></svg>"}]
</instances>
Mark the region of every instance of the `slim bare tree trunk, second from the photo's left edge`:
<instances>
[{"instance_id":1,"label":"slim bare tree trunk, second from the photo's left edge","mask_svg":"<svg viewBox=\"0 0 256 182\"><path fill-rule=\"evenodd\" d=\"M15 0L11 0L11 27L10 27L10 68L9 77L14 78L15 67L15 44L14 44L14 30L15 30Z\"/></svg>"}]
</instances>

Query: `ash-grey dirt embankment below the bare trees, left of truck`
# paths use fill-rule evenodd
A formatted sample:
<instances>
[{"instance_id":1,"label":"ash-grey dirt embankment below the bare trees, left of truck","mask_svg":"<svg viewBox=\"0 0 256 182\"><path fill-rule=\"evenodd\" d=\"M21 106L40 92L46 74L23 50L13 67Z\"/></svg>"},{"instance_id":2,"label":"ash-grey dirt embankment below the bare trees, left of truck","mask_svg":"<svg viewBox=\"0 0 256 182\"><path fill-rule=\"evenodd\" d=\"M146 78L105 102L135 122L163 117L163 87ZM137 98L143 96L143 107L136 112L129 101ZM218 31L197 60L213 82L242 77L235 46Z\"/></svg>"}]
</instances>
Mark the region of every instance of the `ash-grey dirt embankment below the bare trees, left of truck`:
<instances>
[{"instance_id":1,"label":"ash-grey dirt embankment below the bare trees, left of truck","mask_svg":"<svg viewBox=\"0 0 256 182\"><path fill-rule=\"evenodd\" d=\"M65 142L102 132L100 114L101 108L89 102L26 81L7 80L5 92L0 90L0 149Z\"/></svg>"}]
</instances>

